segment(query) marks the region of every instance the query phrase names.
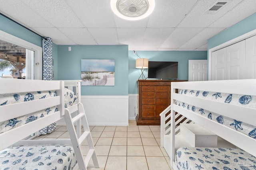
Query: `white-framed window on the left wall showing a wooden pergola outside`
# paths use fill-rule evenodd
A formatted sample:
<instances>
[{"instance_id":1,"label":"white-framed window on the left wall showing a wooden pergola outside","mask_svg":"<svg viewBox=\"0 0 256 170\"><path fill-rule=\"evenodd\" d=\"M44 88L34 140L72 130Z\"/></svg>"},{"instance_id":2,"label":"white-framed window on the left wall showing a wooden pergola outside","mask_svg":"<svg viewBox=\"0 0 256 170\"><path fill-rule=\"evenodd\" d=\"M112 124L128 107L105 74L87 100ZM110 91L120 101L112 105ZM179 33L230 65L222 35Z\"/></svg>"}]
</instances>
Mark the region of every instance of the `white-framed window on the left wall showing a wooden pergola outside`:
<instances>
[{"instance_id":1,"label":"white-framed window on the left wall showing a wooden pergola outside","mask_svg":"<svg viewBox=\"0 0 256 170\"><path fill-rule=\"evenodd\" d=\"M0 77L42 80L42 48L0 31Z\"/></svg>"}]
</instances>

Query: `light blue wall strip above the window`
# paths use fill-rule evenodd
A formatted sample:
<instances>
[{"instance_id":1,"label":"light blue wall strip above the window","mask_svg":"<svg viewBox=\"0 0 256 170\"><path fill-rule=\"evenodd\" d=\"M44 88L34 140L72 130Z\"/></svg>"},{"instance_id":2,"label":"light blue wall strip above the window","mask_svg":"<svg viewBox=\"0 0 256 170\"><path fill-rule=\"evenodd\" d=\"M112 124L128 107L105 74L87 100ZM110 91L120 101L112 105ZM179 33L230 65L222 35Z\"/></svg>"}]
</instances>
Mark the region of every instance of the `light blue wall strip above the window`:
<instances>
[{"instance_id":1,"label":"light blue wall strip above the window","mask_svg":"<svg viewBox=\"0 0 256 170\"><path fill-rule=\"evenodd\" d=\"M0 30L42 47L42 37L0 15Z\"/></svg>"}]
</instances>

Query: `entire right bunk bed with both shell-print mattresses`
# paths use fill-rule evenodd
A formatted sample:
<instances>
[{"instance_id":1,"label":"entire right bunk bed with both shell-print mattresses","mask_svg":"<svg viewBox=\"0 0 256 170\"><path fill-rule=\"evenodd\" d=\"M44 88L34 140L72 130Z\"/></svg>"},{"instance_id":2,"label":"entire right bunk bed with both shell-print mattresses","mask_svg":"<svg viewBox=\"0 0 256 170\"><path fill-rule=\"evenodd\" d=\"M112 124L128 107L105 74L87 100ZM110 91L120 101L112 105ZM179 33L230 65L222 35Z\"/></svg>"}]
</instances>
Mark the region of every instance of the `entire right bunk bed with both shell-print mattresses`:
<instances>
[{"instance_id":1,"label":"entire right bunk bed with both shell-print mattresses","mask_svg":"<svg viewBox=\"0 0 256 170\"><path fill-rule=\"evenodd\" d=\"M255 87L256 79L172 83L169 156L174 170L256 169ZM235 147L180 146L179 133L175 134L177 114Z\"/></svg>"}]
</instances>

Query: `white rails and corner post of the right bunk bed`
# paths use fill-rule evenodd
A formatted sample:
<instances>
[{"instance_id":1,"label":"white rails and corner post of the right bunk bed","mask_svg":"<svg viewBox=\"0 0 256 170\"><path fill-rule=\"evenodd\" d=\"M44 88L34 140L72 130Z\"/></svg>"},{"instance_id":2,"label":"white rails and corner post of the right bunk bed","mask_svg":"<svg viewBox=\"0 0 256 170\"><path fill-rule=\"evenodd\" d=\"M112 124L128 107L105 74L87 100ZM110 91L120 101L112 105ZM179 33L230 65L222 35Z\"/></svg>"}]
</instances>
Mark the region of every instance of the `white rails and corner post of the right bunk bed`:
<instances>
[{"instance_id":1,"label":"white rails and corner post of the right bunk bed","mask_svg":"<svg viewBox=\"0 0 256 170\"><path fill-rule=\"evenodd\" d=\"M212 121L198 113L189 111L186 108L175 105L175 100L189 103L208 111L218 113L237 119L239 121L256 126L256 108L235 106L226 103L204 100L202 98L194 98L191 96L181 95L175 93L176 89L200 90L207 92L220 92L227 94L241 94L256 96L256 79L250 80L218 80L218 81L201 81L201 82L172 82L171 84L171 136L170 136L170 161L172 167L176 168L175 159L175 112L180 113L187 119L194 123L205 127L216 135L222 137L226 141L234 144L240 149L256 156L256 140L244 133L240 133L235 129L222 125L218 122ZM214 127L214 128L212 128ZM239 139L239 140L237 140Z\"/></svg>"}]
</instances>

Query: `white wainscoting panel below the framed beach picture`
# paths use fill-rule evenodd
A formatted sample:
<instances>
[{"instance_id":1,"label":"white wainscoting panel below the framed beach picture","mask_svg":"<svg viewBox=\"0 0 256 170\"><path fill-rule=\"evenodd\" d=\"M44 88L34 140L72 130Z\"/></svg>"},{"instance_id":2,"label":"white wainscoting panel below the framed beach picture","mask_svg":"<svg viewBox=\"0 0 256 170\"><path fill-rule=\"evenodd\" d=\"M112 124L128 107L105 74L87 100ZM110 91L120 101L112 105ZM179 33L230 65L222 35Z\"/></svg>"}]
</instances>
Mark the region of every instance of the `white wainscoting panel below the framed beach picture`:
<instances>
[{"instance_id":1,"label":"white wainscoting panel below the framed beach picture","mask_svg":"<svg viewBox=\"0 0 256 170\"><path fill-rule=\"evenodd\" d=\"M128 126L128 96L81 96L89 125Z\"/></svg>"}]
</instances>

